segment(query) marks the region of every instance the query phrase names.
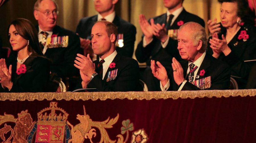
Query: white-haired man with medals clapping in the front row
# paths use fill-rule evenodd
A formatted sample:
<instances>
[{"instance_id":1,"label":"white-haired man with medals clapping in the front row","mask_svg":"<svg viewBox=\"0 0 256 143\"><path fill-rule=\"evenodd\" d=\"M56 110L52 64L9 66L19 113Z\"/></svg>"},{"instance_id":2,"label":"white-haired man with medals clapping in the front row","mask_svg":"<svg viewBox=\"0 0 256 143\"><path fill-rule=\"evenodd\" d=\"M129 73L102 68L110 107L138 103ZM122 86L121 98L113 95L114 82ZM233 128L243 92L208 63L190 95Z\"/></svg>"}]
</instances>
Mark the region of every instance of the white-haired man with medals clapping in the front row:
<instances>
[{"instance_id":1,"label":"white-haired man with medals clapping in the front row","mask_svg":"<svg viewBox=\"0 0 256 143\"><path fill-rule=\"evenodd\" d=\"M179 28L178 50L183 61L173 58L169 75L160 62L151 60L153 75L166 90L228 89L230 68L206 53L205 29L198 23L188 22Z\"/></svg>"}]
</instances>

